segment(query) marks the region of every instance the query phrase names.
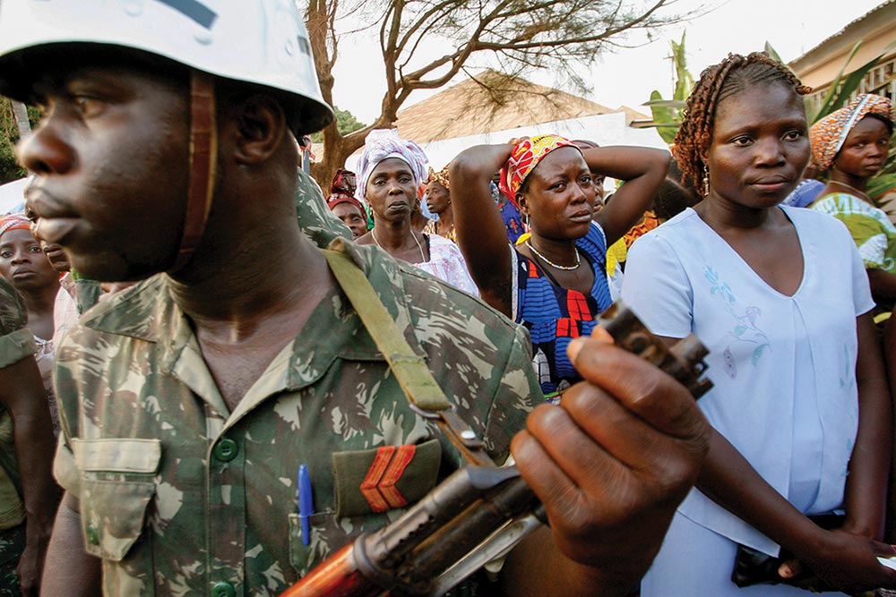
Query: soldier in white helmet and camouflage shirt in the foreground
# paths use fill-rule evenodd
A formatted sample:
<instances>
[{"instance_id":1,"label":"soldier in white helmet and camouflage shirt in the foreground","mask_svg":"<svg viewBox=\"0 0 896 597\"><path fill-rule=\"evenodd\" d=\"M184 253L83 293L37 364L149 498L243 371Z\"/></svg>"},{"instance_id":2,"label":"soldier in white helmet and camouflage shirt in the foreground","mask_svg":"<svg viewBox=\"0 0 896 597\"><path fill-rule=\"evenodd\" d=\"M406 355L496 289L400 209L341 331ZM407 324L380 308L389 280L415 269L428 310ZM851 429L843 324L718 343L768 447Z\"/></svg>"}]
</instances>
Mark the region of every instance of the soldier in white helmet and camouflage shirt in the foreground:
<instances>
[{"instance_id":1,"label":"soldier in white helmet and camouflage shirt in the foreground","mask_svg":"<svg viewBox=\"0 0 896 597\"><path fill-rule=\"evenodd\" d=\"M85 277L149 277L85 313L57 354L65 498L46 595L278 593L461 465L296 226L292 135L332 110L294 4L208 4L0 8L0 92L44 109L19 149L39 234ZM533 410L522 328L336 244L489 455L513 451L545 503L552 528L514 550L501 588L630 589L705 450L685 388L583 339L573 360L591 383Z\"/></svg>"}]
</instances>

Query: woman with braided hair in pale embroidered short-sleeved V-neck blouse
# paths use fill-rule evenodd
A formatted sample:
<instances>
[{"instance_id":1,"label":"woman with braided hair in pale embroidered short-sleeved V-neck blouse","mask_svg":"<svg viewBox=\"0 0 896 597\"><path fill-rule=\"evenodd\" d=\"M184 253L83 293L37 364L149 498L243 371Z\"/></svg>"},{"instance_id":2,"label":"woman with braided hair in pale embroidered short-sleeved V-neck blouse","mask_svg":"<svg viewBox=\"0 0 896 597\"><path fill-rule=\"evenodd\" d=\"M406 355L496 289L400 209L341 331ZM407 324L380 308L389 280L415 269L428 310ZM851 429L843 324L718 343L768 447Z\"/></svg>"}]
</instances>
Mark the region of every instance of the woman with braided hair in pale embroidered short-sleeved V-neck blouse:
<instances>
[{"instance_id":1,"label":"woman with braided hair in pale embroidered short-sleeved V-neck blouse","mask_svg":"<svg viewBox=\"0 0 896 597\"><path fill-rule=\"evenodd\" d=\"M623 298L669 341L696 333L715 384L707 464L644 597L896 584L877 560L892 413L865 269L839 222L778 206L809 160L806 91L761 54L704 71L676 138L703 200L629 252ZM835 512L833 530L808 517ZM739 588L738 544L781 556L771 581L788 584Z\"/></svg>"}]
</instances>

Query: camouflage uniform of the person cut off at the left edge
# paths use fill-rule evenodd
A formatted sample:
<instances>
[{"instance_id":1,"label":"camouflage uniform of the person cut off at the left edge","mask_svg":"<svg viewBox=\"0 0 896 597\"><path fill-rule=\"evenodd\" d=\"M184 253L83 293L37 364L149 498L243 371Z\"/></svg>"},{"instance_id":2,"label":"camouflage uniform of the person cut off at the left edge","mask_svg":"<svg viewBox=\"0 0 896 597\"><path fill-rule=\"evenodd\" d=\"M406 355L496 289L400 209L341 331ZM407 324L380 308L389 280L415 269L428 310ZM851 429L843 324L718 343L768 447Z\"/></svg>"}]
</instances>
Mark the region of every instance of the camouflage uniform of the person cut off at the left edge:
<instances>
[{"instance_id":1,"label":"camouflage uniform of the person cut off at the left edge","mask_svg":"<svg viewBox=\"0 0 896 597\"><path fill-rule=\"evenodd\" d=\"M34 354L22 297L0 277L0 369ZM0 595L21 595L16 567L25 549L25 506L15 458L13 418L0 405Z\"/></svg>"}]
</instances>

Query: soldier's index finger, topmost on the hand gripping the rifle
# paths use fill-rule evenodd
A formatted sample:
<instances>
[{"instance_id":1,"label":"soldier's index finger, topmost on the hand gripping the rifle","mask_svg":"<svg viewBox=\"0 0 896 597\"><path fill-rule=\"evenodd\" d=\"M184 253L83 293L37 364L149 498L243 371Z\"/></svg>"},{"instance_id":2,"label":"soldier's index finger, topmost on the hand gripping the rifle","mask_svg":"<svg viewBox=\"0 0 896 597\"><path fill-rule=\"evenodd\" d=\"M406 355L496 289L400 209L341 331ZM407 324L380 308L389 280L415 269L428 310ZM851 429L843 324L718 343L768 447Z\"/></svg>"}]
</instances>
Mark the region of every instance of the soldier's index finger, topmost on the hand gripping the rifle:
<instances>
[{"instance_id":1,"label":"soldier's index finger, topmost on the hand gripping the rifle","mask_svg":"<svg viewBox=\"0 0 896 597\"><path fill-rule=\"evenodd\" d=\"M708 433L687 389L640 357L595 338L573 340L569 354L583 379L605 389L659 431L678 438Z\"/></svg>"}]
</instances>

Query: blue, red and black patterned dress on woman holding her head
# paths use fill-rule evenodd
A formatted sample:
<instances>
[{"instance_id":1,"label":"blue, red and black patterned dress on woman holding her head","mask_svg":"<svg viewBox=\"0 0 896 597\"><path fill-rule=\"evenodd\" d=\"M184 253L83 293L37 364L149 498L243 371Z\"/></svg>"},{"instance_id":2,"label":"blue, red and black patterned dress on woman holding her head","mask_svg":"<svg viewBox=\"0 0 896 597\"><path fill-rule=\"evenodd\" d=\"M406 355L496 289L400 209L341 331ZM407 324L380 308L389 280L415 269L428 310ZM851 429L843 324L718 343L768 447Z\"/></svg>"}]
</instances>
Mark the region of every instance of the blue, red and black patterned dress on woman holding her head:
<instances>
[{"instance_id":1,"label":"blue, red and black patterned dress on woman holding her head","mask_svg":"<svg viewBox=\"0 0 896 597\"><path fill-rule=\"evenodd\" d=\"M597 316L613 302L607 285L604 231L592 223L576 246L594 271L590 294L556 286L532 260L513 251L513 319L529 329L532 364L551 402L557 401L558 391L582 379L566 356L566 346L573 338L590 335Z\"/></svg>"}]
</instances>

